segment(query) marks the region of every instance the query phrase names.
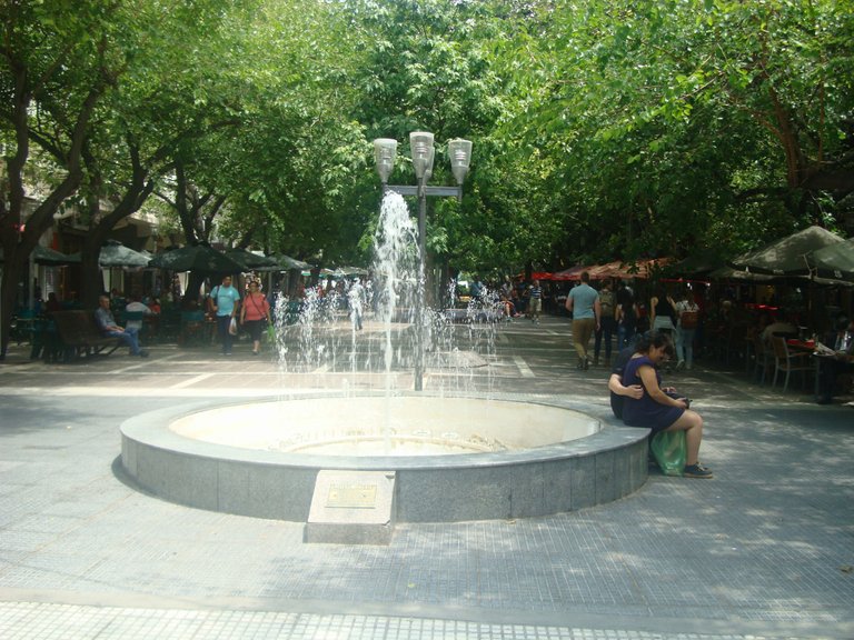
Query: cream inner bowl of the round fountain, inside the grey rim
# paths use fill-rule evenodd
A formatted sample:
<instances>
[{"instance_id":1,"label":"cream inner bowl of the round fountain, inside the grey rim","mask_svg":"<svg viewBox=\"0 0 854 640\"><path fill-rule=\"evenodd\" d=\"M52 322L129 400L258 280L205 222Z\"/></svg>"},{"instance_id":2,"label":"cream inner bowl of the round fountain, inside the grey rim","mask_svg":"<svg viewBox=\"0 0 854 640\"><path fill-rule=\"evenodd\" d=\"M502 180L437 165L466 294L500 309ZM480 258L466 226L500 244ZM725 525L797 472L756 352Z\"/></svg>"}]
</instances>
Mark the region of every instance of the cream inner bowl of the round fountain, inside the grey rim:
<instances>
[{"instance_id":1,"label":"cream inner bowl of the round fountain, inside the grey rim","mask_svg":"<svg viewBox=\"0 0 854 640\"><path fill-rule=\"evenodd\" d=\"M356 397L220 407L179 418L170 429L242 449L370 458L518 451L592 436L600 423L523 402Z\"/></svg>"}]
</instances>

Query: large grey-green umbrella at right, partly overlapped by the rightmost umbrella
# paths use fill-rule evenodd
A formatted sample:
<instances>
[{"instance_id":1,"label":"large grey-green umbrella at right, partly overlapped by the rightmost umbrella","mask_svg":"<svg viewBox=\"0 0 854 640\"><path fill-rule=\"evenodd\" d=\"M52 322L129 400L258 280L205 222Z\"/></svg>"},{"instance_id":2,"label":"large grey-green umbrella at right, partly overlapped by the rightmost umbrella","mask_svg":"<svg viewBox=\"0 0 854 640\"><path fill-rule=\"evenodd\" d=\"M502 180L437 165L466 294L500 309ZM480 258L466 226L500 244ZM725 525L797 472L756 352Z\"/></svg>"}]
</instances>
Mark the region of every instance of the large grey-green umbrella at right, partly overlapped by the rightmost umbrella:
<instances>
[{"instance_id":1,"label":"large grey-green umbrella at right, partly overlapped by the rightmost umbrella","mask_svg":"<svg viewBox=\"0 0 854 640\"><path fill-rule=\"evenodd\" d=\"M808 227L762 249L744 253L733 260L731 266L771 276L808 276L807 254L838 242L844 242L844 239L836 233L821 227Z\"/></svg>"}]
</instances>

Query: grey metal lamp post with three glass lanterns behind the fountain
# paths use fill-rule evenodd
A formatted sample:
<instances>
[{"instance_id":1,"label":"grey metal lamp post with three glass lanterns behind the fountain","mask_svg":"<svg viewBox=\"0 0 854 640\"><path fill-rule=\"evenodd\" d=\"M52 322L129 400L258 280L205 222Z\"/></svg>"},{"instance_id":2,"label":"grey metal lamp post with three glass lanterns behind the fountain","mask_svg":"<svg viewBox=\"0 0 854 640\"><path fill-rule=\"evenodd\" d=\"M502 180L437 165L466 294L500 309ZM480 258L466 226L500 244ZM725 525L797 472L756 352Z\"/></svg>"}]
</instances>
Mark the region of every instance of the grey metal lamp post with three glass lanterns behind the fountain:
<instances>
[{"instance_id":1,"label":"grey metal lamp post with three glass lanterns behind the fountain","mask_svg":"<svg viewBox=\"0 0 854 640\"><path fill-rule=\"evenodd\" d=\"M389 184L388 179L395 168L397 157L397 140L390 138L377 138L374 140L374 160L377 164L377 173L383 182L383 192L395 191L400 196L418 197L418 291L415 297L415 390L424 389L424 294L427 258L427 197L456 198L463 200L463 182L468 173L471 161L471 142L459 138L448 142L448 157L450 170L457 180L456 187L430 187L427 184L433 176L433 161L436 156L436 147L433 143L433 133L427 131L413 131L409 134L409 147L413 156L413 167L417 184L400 186Z\"/></svg>"}]
</instances>

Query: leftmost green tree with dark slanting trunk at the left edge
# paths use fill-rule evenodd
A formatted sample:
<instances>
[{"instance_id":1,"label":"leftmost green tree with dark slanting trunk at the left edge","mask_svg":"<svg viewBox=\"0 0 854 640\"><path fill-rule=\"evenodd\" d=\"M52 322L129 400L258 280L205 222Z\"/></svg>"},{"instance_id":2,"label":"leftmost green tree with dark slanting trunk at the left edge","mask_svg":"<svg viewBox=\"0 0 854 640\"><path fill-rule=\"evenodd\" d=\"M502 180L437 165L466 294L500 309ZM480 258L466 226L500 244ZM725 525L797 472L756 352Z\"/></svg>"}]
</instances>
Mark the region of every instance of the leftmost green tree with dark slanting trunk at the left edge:
<instances>
[{"instance_id":1,"label":"leftmost green tree with dark slanting trunk at the left edge","mask_svg":"<svg viewBox=\"0 0 854 640\"><path fill-rule=\"evenodd\" d=\"M13 137L4 152L0 236L4 256L0 289L0 358L9 344L16 283L39 238L83 180L83 152L96 111L123 72L127 58L111 32L121 7L110 1L28 2L0 9L0 117ZM61 178L23 221L24 174L37 144Z\"/></svg>"}]
</instances>

